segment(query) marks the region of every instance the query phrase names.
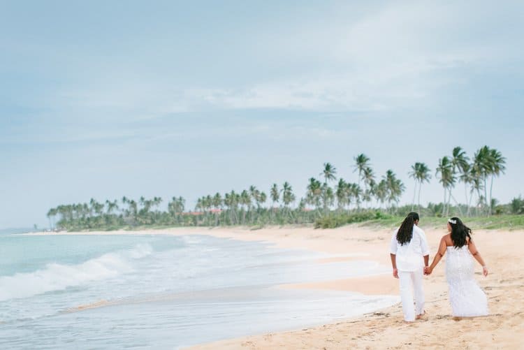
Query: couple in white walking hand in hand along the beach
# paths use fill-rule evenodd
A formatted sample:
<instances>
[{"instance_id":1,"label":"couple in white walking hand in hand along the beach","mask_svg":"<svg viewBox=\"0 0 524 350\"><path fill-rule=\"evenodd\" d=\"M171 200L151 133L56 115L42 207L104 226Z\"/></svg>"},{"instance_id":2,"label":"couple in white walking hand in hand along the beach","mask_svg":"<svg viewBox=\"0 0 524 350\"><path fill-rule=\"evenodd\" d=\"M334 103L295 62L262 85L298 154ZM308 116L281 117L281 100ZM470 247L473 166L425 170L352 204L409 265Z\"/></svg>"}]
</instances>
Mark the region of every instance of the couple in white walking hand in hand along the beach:
<instances>
[{"instance_id":1,"label":"couple in white walking hand in hand along the beach","mask_svg":"<svg viewBox=\"0 0 524 350\"><path fill-rule=\"evenodd\" d=\"M453 316L487 315L488 300L475 282L473 258L481 264L484 276L488 275L488 269L471 238L471 229L458 217L449 219L448 234L440 240L437 254L428 266L428 241L418 225L419 214L410 212L391 238L393 277L398 278L400 282L400 299L405 321L413 322L425 313L423 275L431 275L446 253L446 280Z\"/></svg>"}]
</instances>

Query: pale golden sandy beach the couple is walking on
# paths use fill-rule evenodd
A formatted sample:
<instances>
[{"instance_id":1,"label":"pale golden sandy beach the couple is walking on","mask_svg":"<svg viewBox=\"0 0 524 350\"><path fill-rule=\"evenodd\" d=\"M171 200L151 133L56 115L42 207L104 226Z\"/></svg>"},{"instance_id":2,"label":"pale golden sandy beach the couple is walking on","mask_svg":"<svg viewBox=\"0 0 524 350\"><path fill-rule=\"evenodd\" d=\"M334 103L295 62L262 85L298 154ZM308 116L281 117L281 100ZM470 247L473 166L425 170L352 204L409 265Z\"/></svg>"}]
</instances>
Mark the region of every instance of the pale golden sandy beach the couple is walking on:
<instances>
[{"instance_id":1,"label":"pale golden sandy beach the couple is walking on","mask_svg":"<svg viewBox=\"0 0 524 350\"><path fill-rule=\"evenodd\" d=\"M423 223L421 225L424 228ZM430 245L430 261L444 230L425 231ZM391 231L356 225L315 230L314 228L170 228L144 231L103 231L87 233L36 233L31 235L212 235L247 241L270 242L275 247L310 249L333 255L322 261L374 260L389 266L388 240ZM447 300L444 261L433 274L424 278L427 314L414 324L402 320L400 304L344 321L286 332L250 335L189 349L387 349L429 347L432 349L522 349L516 334L524 333L524 258L520 246L524 231L479 230L473 239L486 260L490 275L484 278L476 263L476 281L488 296L490 315L456 320ZM358 254L358 255L355 255ZM283 284L280 288L330 289L356 291L368 295L398 295L398 280L390 275L337 279L328 282ZM384 293L384 291L387 291ZM517 301L517 302L516 302ZM453 340L450 340L453 335Z\"/></svg>"}]
</instances>

